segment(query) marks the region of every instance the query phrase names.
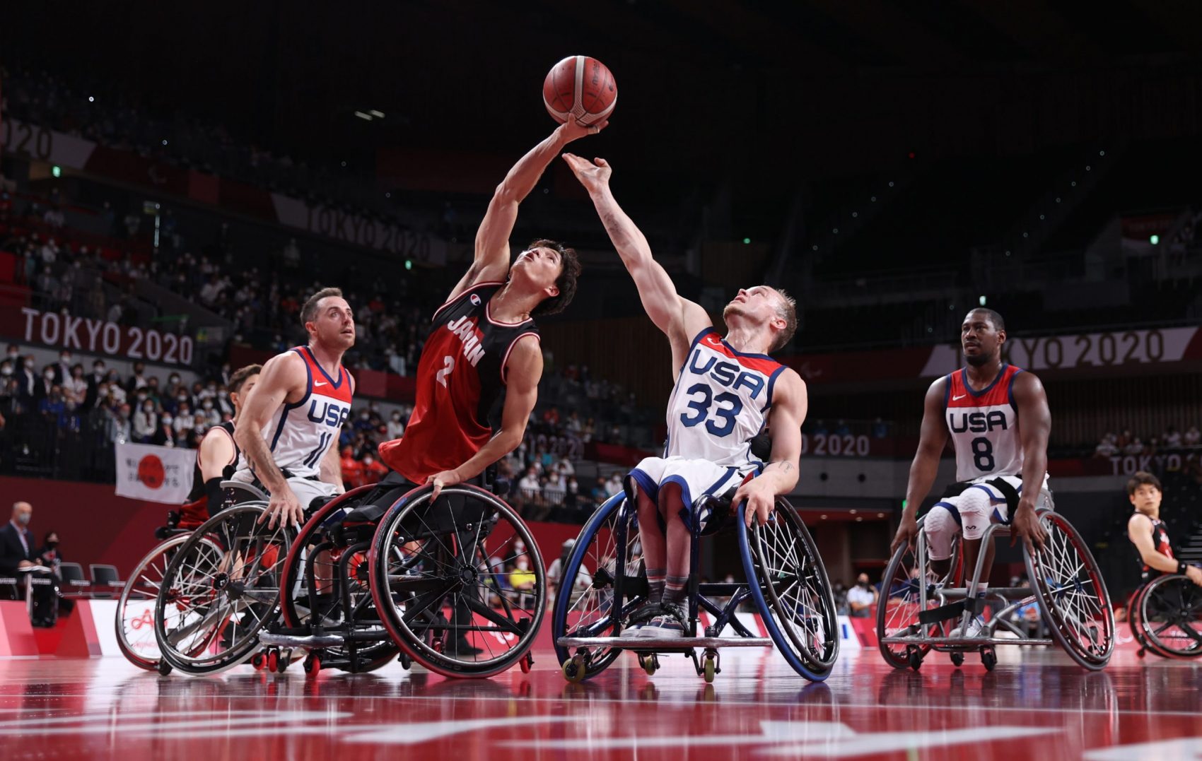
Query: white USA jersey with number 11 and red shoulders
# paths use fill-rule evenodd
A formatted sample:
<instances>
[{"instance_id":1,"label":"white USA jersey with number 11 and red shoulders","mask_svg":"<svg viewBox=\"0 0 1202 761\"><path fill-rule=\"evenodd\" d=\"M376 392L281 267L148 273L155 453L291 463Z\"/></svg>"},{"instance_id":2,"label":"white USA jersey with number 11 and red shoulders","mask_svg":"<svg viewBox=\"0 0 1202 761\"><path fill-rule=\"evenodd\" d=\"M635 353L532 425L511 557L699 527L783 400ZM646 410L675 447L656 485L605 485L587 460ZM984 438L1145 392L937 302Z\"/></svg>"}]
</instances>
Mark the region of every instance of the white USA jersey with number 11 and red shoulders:
<instances>
[{"instance_id":1,"label":"white USA jersey with number 11 and red shoulders","mask_svg":"<svg viewBox=\"0 0 1202 761\"><path fill-rule=\"evenodd\" d=\"M263 429L263 439L280 471L298 478L319 474L321 459L338 444L343 424L351 415L353 380L339 366L338 379L326 374L307 346L292 349L305 362L309 385L294 405L281 405Z\"/></svg>"}]
</instances>

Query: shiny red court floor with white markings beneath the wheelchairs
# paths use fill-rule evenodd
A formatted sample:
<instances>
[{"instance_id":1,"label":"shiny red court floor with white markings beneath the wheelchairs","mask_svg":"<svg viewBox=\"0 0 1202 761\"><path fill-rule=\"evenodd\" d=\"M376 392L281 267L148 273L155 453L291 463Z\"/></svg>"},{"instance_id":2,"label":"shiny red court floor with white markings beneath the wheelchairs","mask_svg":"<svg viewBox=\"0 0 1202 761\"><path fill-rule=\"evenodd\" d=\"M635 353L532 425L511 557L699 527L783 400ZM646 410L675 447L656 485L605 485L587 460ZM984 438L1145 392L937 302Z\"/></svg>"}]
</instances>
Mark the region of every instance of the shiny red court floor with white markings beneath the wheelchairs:
<instances>
[{"instance_id":1,"label":"shiny red court floor with white markings beneath the wheelchairs","mask_svg":"<svg viewBox=\"0 0 1202 761\"><path fill-rule=\"evenodd\" d=\"M305 678L239 666L212 678L119 658L0 661L0 757L24 759L1148 759L1202 755L1202 670L1120 649L1087 672L1061 653L998 648L986 672L873 651L825 683L774 652L727 651L707 685L679 657L632 655L569 684L530 673L452 681L399 665Z\"/></svg>"}]
</instances>

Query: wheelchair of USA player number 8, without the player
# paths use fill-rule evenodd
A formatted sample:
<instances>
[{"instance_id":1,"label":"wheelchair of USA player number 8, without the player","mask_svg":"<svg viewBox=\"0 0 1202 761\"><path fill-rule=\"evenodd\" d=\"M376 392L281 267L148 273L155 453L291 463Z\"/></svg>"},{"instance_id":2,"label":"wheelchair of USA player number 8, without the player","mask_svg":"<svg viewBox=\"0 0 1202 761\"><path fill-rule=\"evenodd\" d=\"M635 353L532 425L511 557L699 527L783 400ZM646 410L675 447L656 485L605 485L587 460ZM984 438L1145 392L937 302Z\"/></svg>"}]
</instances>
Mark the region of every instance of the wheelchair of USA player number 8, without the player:
<instances>
[{"instance_id":1,"label":"wheelchair of USA player number 8, without the player","mask_svg":"<svg viewBox=\"0 0 1202 761\"><path fill-rule=\"evenodd\" d=\"M914 546L902 546L889 558L876 606L876 636L881 655L894 669L917 671L930 651L946 652L952 664L964 664L965 653L976 651L992 671L998 664L996 646L1059 645L1078 665L1097 671L1114 652L1114 611L1101 569L1081 534L1053 509L1052 497L1036 509L1048 533L1043 550L1023 550L1031 587L988 587L984 597L969 597L987 577L986 549L996 537L1010 535L1010 526L990 523L981 540L976 568L968 586L960 586L963 541L952 540L950 570L940 574L927 555L926 516L918 520ZM983 624L980 636L965 636L987 601L999 606ZM1027 606L1039 609L1048 637L1033 637L1012 617ZM990 609L992 610L992 609ZM1006 636L1002 636L1006 635Z\"/></svg>"}]
</instances>

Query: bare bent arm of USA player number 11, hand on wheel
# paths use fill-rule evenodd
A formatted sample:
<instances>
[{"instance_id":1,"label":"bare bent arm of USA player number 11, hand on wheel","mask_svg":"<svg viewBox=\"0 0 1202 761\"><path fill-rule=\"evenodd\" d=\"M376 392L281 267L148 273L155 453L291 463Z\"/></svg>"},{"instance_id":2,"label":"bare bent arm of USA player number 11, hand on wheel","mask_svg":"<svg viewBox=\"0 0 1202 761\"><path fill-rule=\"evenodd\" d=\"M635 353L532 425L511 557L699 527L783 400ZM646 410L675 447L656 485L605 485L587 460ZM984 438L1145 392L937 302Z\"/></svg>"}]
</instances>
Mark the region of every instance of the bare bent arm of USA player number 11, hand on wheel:
<instances>
[{"instance_id":1,"label":"bare bent arm of USA player number 11, hand on wheel","mask_svg":"<svg viewBox=\"0 0 1202 761\"><path fill-rule=\"evenodd\" d=\"M234 441L246 453L246 459L255 468L255 475L267 486L272 498L264 519L269 526L278 522L297 523L304 520L304 510L292 487L272 457L272 450L263 441L263 429L272 420L272 414L284 403L296 403L304 396L309 383L309 373L304 360L296 352L285 352L267 360L258 376L258 383L250 391L242 408ZM262 519L261 519L262 520Z\"/></svg>"}]
</instances>

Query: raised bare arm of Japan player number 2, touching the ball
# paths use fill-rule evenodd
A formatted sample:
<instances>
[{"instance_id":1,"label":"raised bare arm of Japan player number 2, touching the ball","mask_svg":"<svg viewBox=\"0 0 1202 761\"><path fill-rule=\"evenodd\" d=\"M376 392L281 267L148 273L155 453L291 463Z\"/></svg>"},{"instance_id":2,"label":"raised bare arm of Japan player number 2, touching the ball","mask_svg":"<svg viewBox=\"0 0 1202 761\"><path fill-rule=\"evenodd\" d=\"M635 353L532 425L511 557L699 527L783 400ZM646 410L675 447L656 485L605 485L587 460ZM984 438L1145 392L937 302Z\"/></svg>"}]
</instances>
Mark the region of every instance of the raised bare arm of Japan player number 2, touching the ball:
<instances>
[{"instance_id":1,"label":"raised bare arm of Japan player number 2, touching the ball","mask_svg":"<svg viewBox=\"0 0 1202 761\"><path fill-rule=\"evenodd\" d=\"M501 184L496 186L493 199L488 202L484 220L480 223L480 229L476 230L475 260L468 274L447 296L447 300L454 299L475 283L502 281L508 276L510 235L513 233L513 223L518 218L518 204L530 194L530 191L538 182L538 178L565 145L585 134L595 134L608 124L608 121L603 121L595 127L582 127L576 124L575 119L570 119L559 125L547 139L531 148L513 164Z\"/></svg>"}]
</instances>

